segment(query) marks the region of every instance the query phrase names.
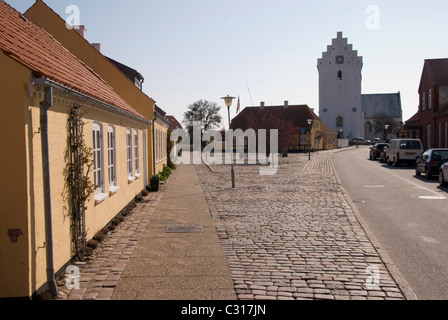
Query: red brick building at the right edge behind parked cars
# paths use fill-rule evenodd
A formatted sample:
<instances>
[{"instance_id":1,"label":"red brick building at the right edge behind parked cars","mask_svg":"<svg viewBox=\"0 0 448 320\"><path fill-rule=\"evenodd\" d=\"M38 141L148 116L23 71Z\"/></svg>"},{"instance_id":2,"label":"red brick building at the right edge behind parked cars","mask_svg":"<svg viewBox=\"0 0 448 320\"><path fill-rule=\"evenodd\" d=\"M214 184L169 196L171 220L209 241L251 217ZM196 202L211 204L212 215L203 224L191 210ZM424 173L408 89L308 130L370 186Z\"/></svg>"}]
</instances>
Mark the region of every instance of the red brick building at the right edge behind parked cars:
<instances>
[{"instance_id":1,"label":"red brick building at the right edge behind parked cars","mask_svg":"<svg viewBox=\"0 0 448 320\"><path fill-rule=\"evenodd\" d=\"M448 59L425 60L418 112L405 123L409 138L424 149L448 148Z\"/></svg>"}]
</instances>

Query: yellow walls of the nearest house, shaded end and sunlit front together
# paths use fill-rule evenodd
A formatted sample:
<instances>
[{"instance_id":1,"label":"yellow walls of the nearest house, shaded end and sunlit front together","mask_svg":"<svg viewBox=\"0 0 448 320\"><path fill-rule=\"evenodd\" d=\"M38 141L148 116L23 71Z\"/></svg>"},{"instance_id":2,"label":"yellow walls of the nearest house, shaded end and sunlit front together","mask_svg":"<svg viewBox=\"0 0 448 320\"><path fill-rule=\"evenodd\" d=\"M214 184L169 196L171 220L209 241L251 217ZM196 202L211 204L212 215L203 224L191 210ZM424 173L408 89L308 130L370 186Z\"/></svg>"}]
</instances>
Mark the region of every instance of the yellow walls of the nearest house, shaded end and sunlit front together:
<instances>
[{"instance_id":1,"label":"yellow walls of the nearest house, shaded end and sunlit front together","mask_svg":"<svg viewBox=\"0 0 448 320\"><path fill-rule=\"evenodd\" d=\"M0 157L0 298L28 297L47 280L39 109L44 95L42 89L30 87L31 71L1 51L0 65L0 107L5 111L0 117L0 151L3 155ZM57 90L54 90L54 96L54 105L48 112L48 129L54 269L57 271L73 256L65 169L68 161L67 121L73 103L78 102L62 96ZM87 146L93 145L93 123L100 123L103 129L105 193L109 190L107 126L110 124L115 128L117 185L120 187L99 204L93 197L87 203L86 229L87 238L91 239L145 188L143 132L148 132L145 123L88 106L83 110ZM126 161L127 128L136 129L139 135L141 176L131 182ZM132 150L134 153L134 148ZM90 178L93 181L93 173ZM12 234L17 232L19 236L14 238Z\"/></svg>"}]
</instances>

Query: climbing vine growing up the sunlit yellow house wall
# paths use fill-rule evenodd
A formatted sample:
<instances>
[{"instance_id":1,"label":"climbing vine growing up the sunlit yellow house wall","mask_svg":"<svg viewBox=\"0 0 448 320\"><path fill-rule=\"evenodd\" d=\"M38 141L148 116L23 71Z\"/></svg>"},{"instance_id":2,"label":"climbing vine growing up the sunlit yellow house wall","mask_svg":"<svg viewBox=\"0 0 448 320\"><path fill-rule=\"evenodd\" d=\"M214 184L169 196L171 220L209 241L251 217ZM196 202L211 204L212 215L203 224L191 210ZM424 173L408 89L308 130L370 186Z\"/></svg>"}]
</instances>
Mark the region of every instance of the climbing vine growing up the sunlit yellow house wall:
<instances>
[{"instance_id":1,"label":"climbing vine growing up the sunlit yellow house wall","mask_svg":"<svg viewBox=\"0 0 448 320\"><path fill-rule=\"evenodd\" d=\"M93 167L92 148L84 141L83 113L79 107L74 107L68 120L68 150L67 183L70 190L70 210L72 218L72 236L75 256L84 260L86 247L85 212L86 202L95 192L94 184L89 178Z\"/></svg>"}]
</instances>

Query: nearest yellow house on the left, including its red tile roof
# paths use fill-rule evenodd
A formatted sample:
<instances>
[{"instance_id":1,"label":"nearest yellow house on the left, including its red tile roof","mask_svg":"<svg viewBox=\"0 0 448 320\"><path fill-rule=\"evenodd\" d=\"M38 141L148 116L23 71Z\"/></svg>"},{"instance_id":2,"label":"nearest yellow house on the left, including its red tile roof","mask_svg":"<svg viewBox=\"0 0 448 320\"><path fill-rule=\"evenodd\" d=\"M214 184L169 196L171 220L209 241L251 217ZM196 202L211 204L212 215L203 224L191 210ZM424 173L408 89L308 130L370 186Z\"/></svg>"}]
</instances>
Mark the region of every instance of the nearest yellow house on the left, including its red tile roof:
<instances>
[{"instance_id":1,"label":"nearest yellow house on the left, including its red tile roof","mask_svg":"<svg viewBox=\"0 0 448 320\"><path fill-rule=\"evenodd\" d=\"M3 1L0 25L0 148L11 155L0 158L0 298L30 297L144 190L151 122ZM82 221L76 167L92 187Z\"/></svg>"}]
</instances>

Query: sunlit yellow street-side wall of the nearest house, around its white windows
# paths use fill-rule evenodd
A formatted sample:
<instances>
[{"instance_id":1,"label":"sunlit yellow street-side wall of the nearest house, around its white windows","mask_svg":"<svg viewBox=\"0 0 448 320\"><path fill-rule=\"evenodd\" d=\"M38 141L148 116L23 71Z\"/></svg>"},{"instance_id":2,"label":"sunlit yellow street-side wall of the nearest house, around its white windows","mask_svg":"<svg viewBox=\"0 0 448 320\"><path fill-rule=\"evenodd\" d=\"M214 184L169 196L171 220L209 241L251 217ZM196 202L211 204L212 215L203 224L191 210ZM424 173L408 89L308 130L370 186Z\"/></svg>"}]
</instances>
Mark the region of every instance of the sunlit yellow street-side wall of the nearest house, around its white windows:
<instances>
[{"instance_id":1,"label":"sunlit yellow street-side wall of the nearest house, around its white windows","mask_svg":"<svg viewBox=\"0 0 448 320\"><path fill-rule=\"evenodd\" d=\"M57 92L55 93L57 95ZM40 111L39 108L34 106L38 105L39 101L42 99L43 97L38 95L32 104L33 106L29 107L32 132L37 132L40 125ZM70 101L56 98L55 104L51 107L48 113L55 271L63 267L73 256L72 238L70 234L70 205L68 203L69 190L67 188L65 175L68 161L67 121L71 108L72 105ZM86 231L87 239L89 240L145 188L146 185L143 181L143 175L132 182L128 181L126 129L131 128L131 130L134 130L137 128L139 134L139 162L140 168L142 168L143 140L141 137L143 130L146 130L146 128L144 125L142 126L133 120L127 120L113 114L99 112L93 108L82 107L82 109L85 111L83 118L85 122L84 138L88 147L92 147L93 145L93 123L98 123L102 128L102 168L105 194L109 194L107 128L108 125L112 125L115 128L116 174L117 185L120 187L115 194L109 194L109 196L99 204L95 203L94 196L92 196L90 201L86 203L86 207L88 208L86 211ZM32 234L35 239L34 245L31 246L31 255L33 255L33 251L36 252L35 257L31 257L32 260L35 261L35 266L31 266L30 268L30 272L33 275L31 277L31 291L34 292L46 282L45 249L42 248L45 242L45 225L44 203L42 197L42 155L40 152L40 134L33 135L29 145L33 146L32 155L30 155L30 159L33 159L33 168L29 183L34 186L33 192L30 193L34 205L31 208L32 210L29 210L29 215L34 221L34 223L30 224L30 234ZM132 150L134 152L134 148L132 148ZM90 179L93 181L93 173L90 174Z\"/></svg>"}]
</instances>

